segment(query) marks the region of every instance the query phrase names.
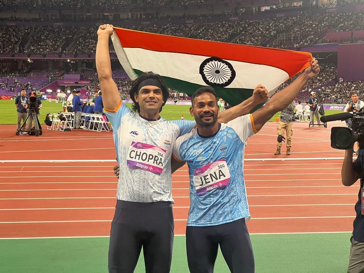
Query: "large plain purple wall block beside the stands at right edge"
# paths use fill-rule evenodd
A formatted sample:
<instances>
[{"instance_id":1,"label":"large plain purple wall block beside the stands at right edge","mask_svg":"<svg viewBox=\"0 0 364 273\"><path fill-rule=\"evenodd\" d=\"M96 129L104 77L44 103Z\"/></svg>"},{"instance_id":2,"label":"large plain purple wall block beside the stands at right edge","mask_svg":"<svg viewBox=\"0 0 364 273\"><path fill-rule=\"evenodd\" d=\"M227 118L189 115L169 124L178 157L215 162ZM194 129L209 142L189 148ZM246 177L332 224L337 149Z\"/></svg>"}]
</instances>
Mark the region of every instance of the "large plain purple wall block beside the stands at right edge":
<instances>
[{"instance_id":1,"label":"large plain purple wall block beside the stands at right edge","mask_svg":"<svg viewBox=\"0 0 364 273\"><path fill-rule=\"evenodd\" d=\"M364 43L339 44L337 50L337 79L364 80Z\"/></svg>"}]
</instances>

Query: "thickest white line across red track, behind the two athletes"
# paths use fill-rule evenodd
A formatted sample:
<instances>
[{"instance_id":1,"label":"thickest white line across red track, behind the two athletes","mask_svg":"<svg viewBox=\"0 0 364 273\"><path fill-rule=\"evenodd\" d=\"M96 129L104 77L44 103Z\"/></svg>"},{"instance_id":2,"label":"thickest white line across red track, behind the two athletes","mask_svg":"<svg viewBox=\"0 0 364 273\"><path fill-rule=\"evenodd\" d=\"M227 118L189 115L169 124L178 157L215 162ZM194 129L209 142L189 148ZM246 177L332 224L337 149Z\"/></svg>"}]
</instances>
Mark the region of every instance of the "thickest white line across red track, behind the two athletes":
<instances>
[{"instance_id":1,"label":"thickest white line across red track, behind the two athletes","mask_svg":"<svg viewBox=\"0 0 364 273\"><path fill-rule=\"evenodd\" d=\"M111 149L111 148L99 148L99 149ZM114 149L114 148L112 148ZM83 150L83 149L82 149ZM91 149L94 150L94 149ZM53 150L51 150L53 151ZM56 151L63 151L63 150L56 150ZM66 150L68 151L68 149ZM27 151L25 151L27 152ZM332 151L329 151L332 152ZM8 152L6 152L8 153ZM10 152L9 153L13 153ZM304 152L307 153L307 152ZM323 153L322 151L320 151L320 153ZM245 154L247 155L247 154ZM266 158L266 159L262 159L262 158L245 158L244 161L292 161L292 160L342 160L344 159L344 157L308 157L308 158L303 158L303 157L298 157L298 158ZM20 162L48 162L48 163L53 163L53 162L116 162L115 159L49 159L49 160L1 160L1 163L8 163L8 162L15 162L15 163L20 163Z\"/></svg>"}]
</instances>

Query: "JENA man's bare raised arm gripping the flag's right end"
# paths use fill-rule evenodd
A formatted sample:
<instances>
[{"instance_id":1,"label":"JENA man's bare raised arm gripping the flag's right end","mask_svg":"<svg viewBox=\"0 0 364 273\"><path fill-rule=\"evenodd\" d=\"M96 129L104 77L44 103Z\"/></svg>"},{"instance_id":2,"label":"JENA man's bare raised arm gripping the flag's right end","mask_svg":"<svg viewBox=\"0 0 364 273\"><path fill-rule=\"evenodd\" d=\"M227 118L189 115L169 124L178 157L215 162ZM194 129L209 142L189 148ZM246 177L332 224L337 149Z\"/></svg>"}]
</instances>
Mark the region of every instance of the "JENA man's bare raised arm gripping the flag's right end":
<instances>
[{"instance_id":1,"label":"JENA man's bare raised arm gripping the flag's right end","mask_svg":"<svg viewBox=\"0 0 364 273\"><path fill-rule=\"evenodd\" d=\"M306 68L293 83L272 96L265 106L253 113L254 127L256 130L259 131L274 114L286 108L296 98L298 92L302 90L306 82L317 76L319 72L320 67L318 67L317 60L313 58L311 66Z\"/></svg>"}]
</instances>

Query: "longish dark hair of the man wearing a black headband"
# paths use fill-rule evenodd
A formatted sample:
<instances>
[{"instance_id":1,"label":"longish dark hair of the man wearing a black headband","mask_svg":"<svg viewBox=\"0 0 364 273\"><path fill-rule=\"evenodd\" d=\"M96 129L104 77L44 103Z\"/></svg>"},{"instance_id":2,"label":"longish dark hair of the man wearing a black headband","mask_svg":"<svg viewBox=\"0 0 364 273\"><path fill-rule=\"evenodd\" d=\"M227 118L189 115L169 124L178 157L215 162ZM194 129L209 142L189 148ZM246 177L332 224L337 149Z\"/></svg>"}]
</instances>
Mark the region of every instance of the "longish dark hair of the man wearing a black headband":
<instances>
[{"instance_id":1,"label":"longish dark hair of the man wearing a black headband","mask_svg":"<svg viewBox=\"0 0 364 273\"><path fill-rule=\"evenodd\" d=\"M129 91L129 95L130 95L130 98L132 99L132 101L134 102L132 104L132 110L135 111L135 112L138 112L140 113L140 106L139 106L139 103L137 103L135 101L135 98L134 98L134 94L139 92L139 90L137 90L139 84L141 82L143 82L143 80L146 80L146 79L155 79L155 80L158 80L158 82L161 84L162 86L162 94L163 94L163 104L162 104L162 107L159 109L159 112L162 111L162 108L163 106L166 104L168 98L169 98L169 91L168 91L168 87L166 86L166 84L163 82L163 79L160 75L158 74L155 74L151 71L149 72L144 72L142 75L140 75L137 79L133 80L131 82L131 88L130 88L130 91Z\"/></svg>"}]
</instances>

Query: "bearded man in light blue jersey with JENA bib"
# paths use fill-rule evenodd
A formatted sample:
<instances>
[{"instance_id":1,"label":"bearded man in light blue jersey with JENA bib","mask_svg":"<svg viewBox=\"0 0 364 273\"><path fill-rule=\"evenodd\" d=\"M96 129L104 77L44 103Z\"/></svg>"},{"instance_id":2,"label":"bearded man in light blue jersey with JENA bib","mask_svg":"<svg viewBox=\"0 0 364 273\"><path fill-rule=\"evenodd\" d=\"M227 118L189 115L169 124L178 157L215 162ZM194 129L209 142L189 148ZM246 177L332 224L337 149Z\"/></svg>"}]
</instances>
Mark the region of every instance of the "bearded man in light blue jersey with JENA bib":
<instances>
[{"instance_id":1,"label":"bearded man in light blue jersey with JENA bib","mask_svg":"<svg viewBox=\"0 0 364 273\"><path fill-rule=\"evenodd\" d=\"M197 128L177 138L173 147L174 158L187 162L189 168L186 249L191 273L213 272L219 246L231 272L254 273L246 226L250 213L243 171L245 143L319 72L313 59L310 67L264 106L227 123L217 121L219 108L212 87L201 87L192 95L190 114Z\"/></svg>"}]
</instances>

